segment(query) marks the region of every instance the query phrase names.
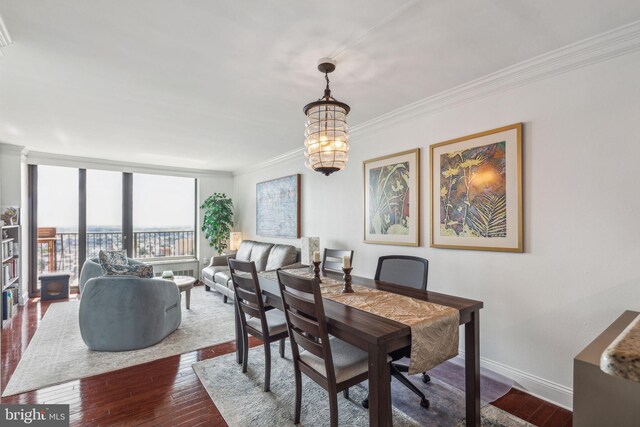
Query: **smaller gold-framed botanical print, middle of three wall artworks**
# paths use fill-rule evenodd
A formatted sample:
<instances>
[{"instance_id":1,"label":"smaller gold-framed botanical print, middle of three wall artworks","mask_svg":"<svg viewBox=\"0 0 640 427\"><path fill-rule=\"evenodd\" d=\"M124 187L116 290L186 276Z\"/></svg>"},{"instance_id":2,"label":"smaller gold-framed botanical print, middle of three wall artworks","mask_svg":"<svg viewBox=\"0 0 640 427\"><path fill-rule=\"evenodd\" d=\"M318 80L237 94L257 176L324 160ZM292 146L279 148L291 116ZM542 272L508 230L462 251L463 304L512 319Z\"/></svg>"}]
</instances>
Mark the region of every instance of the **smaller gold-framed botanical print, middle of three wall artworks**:
<instances>
[{"instance_id":1,"label":"smaller gold-framed botanical print, middle of three wall artworks","mask_svg":"<svg viewBox=\"0 0 640 427\"><path fill-rule=\"evenodd\" d=\"M362 162L364 241L420 244L420 149Z\"/></svg>"}]
</instances>

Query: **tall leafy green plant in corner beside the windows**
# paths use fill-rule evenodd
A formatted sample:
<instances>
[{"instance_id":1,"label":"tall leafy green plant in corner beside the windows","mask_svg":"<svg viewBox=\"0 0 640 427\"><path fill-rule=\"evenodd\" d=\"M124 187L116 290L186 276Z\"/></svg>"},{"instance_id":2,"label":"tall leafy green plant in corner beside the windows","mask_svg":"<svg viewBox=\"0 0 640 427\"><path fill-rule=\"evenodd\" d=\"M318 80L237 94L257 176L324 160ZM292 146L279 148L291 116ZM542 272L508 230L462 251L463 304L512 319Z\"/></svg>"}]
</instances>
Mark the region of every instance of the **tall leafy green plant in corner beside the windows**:
<instances>
[{"instance_id":1,"label":"tall leafy green plant in corner beside the windows","mask_svg":"<svg viewBox=\"0 0 640 427\"><path fill-rule=\"evenodd\" d=\"M218 251L218 255L227 248L229 233L233 228L233 202L224 193L214 193L204 201L200 209L204 210L202 231L209 246Z\"/></svg>"}]
</instances>

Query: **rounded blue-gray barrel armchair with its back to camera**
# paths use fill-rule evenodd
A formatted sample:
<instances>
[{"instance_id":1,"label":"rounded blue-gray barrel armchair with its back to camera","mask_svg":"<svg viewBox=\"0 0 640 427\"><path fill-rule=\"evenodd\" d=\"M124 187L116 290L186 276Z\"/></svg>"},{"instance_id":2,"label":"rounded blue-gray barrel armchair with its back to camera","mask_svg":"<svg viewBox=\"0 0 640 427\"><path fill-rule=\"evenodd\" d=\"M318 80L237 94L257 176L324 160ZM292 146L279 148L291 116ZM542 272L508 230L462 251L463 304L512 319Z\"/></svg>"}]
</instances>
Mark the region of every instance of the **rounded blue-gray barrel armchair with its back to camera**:
<instances>
[{"instance_id":1,"label":"rounded blue-gray barrel armchair with its back to camera","mask_svg":"<svg viewBox=\"0 0 640 427\"><path fill-rule=\"evenodd\" d=\"M91 350L149 347L180 326L180 291L171 281L103 276L94 258L82 266L79 286L80 334Z\"/></svg>"}]
</instances>

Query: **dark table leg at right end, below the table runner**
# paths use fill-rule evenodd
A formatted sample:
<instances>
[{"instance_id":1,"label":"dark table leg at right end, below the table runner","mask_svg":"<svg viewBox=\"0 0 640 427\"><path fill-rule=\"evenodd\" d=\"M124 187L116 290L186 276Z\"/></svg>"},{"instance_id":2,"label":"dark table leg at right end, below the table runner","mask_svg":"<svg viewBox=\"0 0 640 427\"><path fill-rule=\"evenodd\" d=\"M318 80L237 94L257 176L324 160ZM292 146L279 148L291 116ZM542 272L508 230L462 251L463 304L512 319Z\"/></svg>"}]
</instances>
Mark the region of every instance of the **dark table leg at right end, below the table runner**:
<instances>
[{"instance_id":1,"label":"dark table leg at right end, below the table runner","mask_svg":"<svg viewBox=\"0 0 640 427\"><path fill-rule=\"evenodd\" d=\"M467 427L480 427L480 311L464 325L464 372Z\"/></svg>"}]
</instances>

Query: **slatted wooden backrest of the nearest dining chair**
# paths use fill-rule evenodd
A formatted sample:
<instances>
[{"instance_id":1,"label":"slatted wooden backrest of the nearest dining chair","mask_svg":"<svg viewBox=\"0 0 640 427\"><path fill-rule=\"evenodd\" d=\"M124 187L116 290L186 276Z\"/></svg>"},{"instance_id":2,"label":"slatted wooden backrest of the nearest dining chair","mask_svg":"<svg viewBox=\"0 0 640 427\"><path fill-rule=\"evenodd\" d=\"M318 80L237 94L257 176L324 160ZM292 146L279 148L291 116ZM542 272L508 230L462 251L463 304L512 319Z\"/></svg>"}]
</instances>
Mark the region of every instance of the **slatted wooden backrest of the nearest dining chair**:
<instances>
[{"instance_id":1,"label":"slatted wooden backrest of the nearest dining chair","mask_svg":"<svg viewBox=\"0 0 640 427\"><path fill-rule=\"evenodd\" d=\"M327 381L335 383L335 371L327 320L320 293L320 281L307 279L278 270L280 296L287 328L291 339L291 352L296 366L303 364L314 369L300 359L298 346L324 360ZM322 373L320 373L322 375Z\"/></svg>"}]
</instances>

